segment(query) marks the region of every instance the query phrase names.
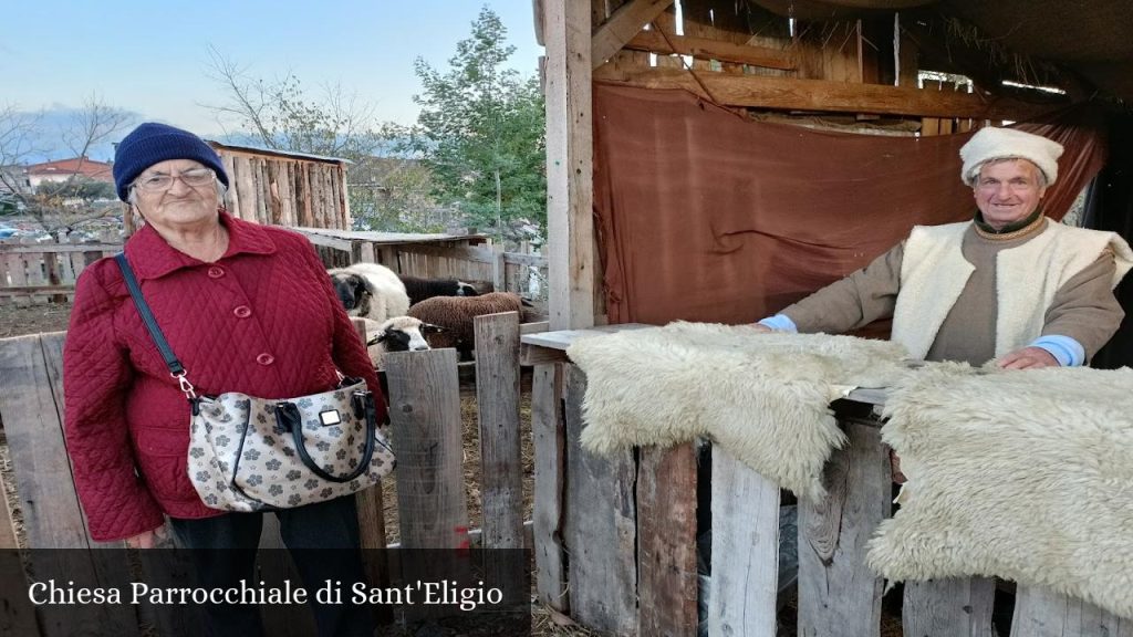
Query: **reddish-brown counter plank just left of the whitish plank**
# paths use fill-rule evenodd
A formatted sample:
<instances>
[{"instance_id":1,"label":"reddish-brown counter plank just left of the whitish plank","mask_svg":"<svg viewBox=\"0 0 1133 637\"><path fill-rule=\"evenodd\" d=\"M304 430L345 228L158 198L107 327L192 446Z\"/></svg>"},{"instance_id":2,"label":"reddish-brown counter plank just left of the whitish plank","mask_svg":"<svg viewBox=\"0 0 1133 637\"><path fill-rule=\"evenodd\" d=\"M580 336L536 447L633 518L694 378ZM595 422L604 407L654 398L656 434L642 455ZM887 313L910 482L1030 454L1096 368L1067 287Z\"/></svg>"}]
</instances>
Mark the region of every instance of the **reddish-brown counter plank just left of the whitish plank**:
<instances>
[{"instance_id":1,"label":"reddish-brown counter plank just left of the whitish plank","mask_svg":"<svg viewBox=\"0 0 1133 637\"><path fill-rule=\"evenodd\" d=\"M692 443L641 449L637 519L638 635L696 635L697 457Z\"/></svg>"}]
</instances>

